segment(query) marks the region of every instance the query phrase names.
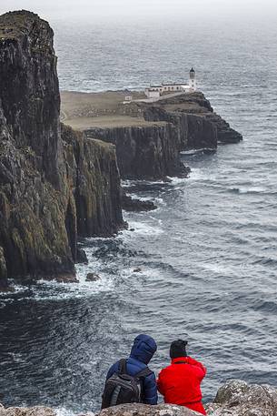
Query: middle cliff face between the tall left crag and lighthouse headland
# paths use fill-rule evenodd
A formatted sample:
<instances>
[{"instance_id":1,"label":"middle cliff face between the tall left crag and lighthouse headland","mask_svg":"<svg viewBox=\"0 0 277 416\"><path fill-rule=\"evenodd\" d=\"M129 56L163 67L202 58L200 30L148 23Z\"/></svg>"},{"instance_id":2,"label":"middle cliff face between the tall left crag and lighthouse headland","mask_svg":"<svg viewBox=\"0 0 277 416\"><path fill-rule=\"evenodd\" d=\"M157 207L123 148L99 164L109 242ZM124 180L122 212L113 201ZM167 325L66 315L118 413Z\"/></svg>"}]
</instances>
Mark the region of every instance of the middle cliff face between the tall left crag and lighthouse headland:
<instances>
[{"instance_id":1,"label":"middle cliff face between the tall left crag and lighthouse headland","mask_svg":"<svg viewBox=\"0 0 277 416\"><path fill-rule=\"evenodd\" d=\"M62 125L67 175L73 189L78 235L113 235L124 226L115 147Z\"/></svg>"}]
</instances>

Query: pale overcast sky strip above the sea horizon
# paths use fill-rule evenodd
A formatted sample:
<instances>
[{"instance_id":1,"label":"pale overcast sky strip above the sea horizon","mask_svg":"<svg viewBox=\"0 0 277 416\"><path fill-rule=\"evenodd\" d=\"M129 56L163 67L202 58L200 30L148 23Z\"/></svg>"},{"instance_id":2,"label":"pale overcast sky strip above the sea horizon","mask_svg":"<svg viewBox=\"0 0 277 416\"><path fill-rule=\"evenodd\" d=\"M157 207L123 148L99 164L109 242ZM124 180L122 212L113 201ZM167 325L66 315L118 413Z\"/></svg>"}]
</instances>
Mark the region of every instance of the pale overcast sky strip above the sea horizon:
<instances>
[{"instance_id":1,"label":"pale overcast sky strip above the sea horizon","mask_svg":"<svg viewBox=\"0 0 277 416\"><path fill-rule=\"evenodd\" d=\"M277 17L277 0L0 0L0 13L32 10L45 18L109 18L128 16L150 19L153 15L180 19Z\"/></svg>"}]
</instances>

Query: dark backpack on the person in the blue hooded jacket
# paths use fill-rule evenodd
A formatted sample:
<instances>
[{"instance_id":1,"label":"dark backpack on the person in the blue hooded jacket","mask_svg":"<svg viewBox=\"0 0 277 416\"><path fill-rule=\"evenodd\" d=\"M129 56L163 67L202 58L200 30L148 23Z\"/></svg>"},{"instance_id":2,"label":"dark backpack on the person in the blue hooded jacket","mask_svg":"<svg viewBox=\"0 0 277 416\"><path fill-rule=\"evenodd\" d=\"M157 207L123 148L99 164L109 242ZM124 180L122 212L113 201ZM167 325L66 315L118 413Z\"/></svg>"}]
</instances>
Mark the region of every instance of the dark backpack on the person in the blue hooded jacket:
<instances>
[{"instance_id":1,"label":"dark backpack on the person in the blue hooded jacket","mask_svg":"<svg viewBox=\"0 0 277 416\"><path fill-rule=\"evenodd\" d=\"M148 367L139 371L134 376L127 374L127 360L119 361L119 371L114 372L110 379L106 380L102 396L102 409L123 403L140 403L142 397L142 379L153 371Z\"/></svg>"}]
</instances>

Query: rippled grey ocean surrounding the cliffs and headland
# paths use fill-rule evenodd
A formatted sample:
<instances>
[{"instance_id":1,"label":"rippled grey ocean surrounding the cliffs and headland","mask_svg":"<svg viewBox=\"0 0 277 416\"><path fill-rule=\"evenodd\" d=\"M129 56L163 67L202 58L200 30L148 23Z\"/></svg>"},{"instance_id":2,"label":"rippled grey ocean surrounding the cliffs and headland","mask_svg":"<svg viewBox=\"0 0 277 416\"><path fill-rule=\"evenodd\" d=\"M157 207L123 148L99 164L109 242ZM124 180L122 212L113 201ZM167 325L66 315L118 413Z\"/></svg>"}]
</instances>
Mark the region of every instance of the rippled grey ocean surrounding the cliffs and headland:
<instances>
[{"instance_id":1,"label":"rippled grey ocean surrounding the cliffs and headland","mask_svg":"<svg viewBox=\"0 0 277 416\"><path fill-rule=\"evenodd\" d=\"M125 182L158 209L125 213L134 231L87 238L79 284L44 281L0 297L0 401L62 414L99 409L106 370L134 337L189 340L208 368L204 401L229 379L277 384L277 31L271 25L81 26L54 22L62 89L142 88L187 79L243 135L189 152L188 179ZM134 269L140 268L140 272ZM85 282L87 272L97 282Z\"/></svg>"}]
</instances>

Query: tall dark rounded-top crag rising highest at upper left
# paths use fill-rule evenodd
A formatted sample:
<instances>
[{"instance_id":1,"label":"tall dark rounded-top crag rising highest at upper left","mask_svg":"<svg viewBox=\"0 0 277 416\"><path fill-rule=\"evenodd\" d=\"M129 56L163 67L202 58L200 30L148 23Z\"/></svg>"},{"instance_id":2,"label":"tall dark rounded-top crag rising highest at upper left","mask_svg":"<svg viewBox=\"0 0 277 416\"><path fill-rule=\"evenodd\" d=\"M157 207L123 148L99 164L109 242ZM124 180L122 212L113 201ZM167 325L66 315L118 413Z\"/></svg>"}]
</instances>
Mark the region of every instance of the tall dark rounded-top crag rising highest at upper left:
<instances>
[{"instance_id":1,"label":"tall dark rounded-top crag rising highest at upper left","mask_svg":"<svg viewBox=\"0 0 277 416\"><path fill-rule=\"evenodd\" d=\"M62 147L60 95L53 31L37 15L0 18L0 96L17 147L35 152L35 165L56 188Z\"/></svg>"}]
</instances>

